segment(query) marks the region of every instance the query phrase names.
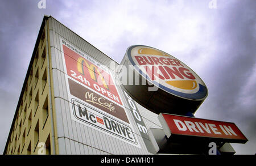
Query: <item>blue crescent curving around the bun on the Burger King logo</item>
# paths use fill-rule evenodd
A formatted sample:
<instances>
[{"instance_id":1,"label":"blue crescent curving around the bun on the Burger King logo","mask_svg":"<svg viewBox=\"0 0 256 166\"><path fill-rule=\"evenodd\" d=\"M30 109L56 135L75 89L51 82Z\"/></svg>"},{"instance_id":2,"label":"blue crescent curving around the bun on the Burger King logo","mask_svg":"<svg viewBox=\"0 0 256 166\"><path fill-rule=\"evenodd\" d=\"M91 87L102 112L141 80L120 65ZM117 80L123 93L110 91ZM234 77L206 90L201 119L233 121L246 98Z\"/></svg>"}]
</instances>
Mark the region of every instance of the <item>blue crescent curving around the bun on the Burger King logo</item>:
<instances>
[{"instance_id":1,"label":"blue crescent curving around the bun on the Burger King logo","mask_svg":"<svg viewBox=\"0 0 256 166\"><path fill-rule=\"evenodd\" d=\"M170 92L176 96L180 96L180 97L184 97L186 99L193 99L193 100L199 100L199 99L203 99L206 95L207 95L207 88L205 86L203 86L202 84L199 84L199 90L196 93L183 93L183 92L179 92L179 91L175 91L172 90L170 88L167 88L166 86L163 86L162 84L156 82L155 80L151 80L147 74L144 74L137 65L135 65L133 58L131 58L131 50L137 46L146 46L146 45L134 45L134 46L130 46L130 48L127 49L127 56L131 62L131 64L134 66L134 68L141 74L144 76L144 78L148 79L151 83L157 85L159 88L162 88L163 90ZM150 46L146 46L148 48L152 48ZM155 48L153 48L155 49Z\"/></svg>"}]
</instances>

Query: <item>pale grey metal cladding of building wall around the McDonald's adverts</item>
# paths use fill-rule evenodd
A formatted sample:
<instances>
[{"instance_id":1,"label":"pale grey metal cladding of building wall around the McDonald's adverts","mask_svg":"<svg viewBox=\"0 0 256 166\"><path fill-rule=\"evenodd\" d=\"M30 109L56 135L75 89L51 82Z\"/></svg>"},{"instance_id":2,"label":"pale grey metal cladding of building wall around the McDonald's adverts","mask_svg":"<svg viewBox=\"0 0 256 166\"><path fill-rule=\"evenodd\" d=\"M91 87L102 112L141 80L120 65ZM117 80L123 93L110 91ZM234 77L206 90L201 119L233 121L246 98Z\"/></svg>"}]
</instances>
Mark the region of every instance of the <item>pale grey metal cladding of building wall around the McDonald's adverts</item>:
<instances>
[{"instance_id":1,"label":"pale grey metal cladding of building wall around the McDonald's adverts","mask_svg":"<svg viewBox=\"0 0 256 166\"><path fill-rule=\"evenodd\" d=\"M133 110L129 108L120 86L116 86L117 92L122 101L123 110L125 110L129 120L129 127L131 127L134 139L138 142L137 144L123 141L123 138L114 137L107 132L96 129L96 127L90 127L72 119L70 107L72 101L69 97L69 84L67 83L68 74L65 71L63 46L60 40L67 41L108 68L110 68L112 59L52 17L49 18L49 36L59 154L151 154L143 142L144 138L135 121ZM117 79L114 71L110 70L109 72L113 79ZM141 105L137 104L137 107L147 128L160 127L156 114L151 113ZM117 130L117 128L115 129ZM121 130L119 131L121 132Z\"/></svg>"}]
</instances>

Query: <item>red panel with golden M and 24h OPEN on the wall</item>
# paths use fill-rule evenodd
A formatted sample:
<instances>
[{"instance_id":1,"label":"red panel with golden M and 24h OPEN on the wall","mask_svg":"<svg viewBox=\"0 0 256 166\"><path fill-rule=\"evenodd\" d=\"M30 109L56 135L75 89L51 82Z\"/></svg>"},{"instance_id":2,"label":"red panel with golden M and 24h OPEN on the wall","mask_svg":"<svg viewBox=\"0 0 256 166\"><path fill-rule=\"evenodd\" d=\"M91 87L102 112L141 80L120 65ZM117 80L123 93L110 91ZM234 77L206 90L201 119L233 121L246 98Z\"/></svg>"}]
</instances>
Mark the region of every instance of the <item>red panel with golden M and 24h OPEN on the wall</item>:
<instances>
[{"instance_id":1,"label":"red panel with golden M and 24h OPEN on the wall","mask_svg":"<svg viewBox=\"0 0 256 166\"><path fill-rule=\"evenodd\" d=\"M92 88L108 99L122 105L112 76L108 72L101 69L101 67L98 66L99 64L94 62L93 59L89 61L89 59L87 59L88 57L81 57L64 44L63 52L67 73L71 78L76 79L85 86Z\"/></svg>"}]
</instances>

